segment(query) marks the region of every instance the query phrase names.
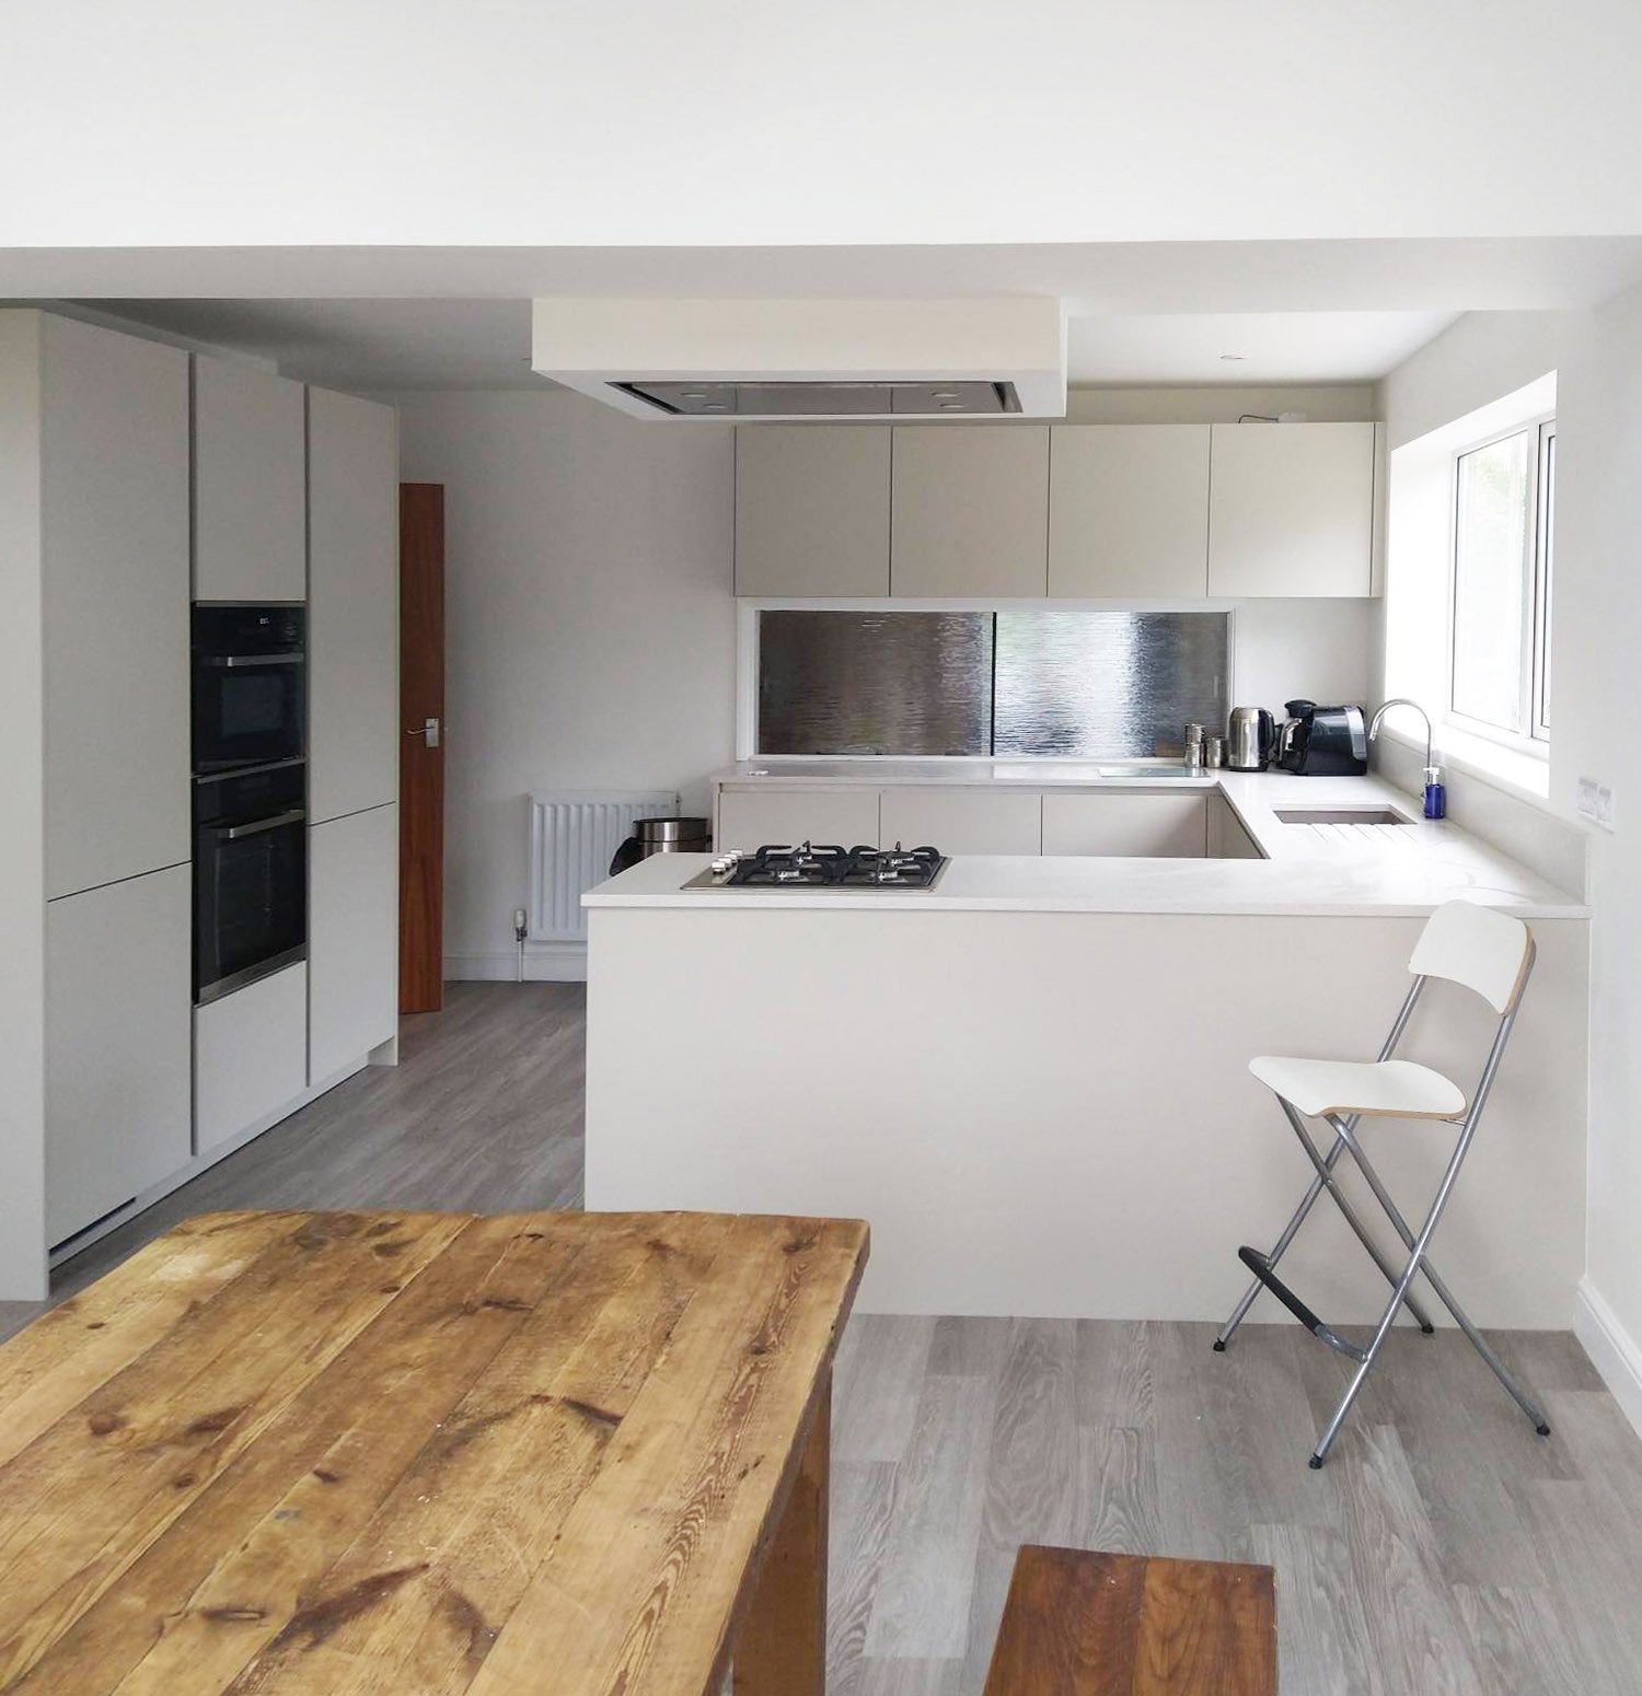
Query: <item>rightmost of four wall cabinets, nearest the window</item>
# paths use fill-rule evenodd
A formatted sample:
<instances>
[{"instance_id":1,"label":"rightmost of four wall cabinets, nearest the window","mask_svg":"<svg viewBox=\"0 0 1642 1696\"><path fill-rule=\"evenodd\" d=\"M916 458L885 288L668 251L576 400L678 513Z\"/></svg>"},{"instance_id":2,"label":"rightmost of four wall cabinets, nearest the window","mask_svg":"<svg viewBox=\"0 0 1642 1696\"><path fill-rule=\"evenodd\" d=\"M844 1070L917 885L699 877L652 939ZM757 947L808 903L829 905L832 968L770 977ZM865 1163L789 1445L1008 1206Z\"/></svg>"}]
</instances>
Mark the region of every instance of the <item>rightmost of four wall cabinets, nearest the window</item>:
<instances>
[{"instance_id":1,"label":"rightmost of four wall cabinets, nearest the window","mask_svg":"<svg viewBox=\"0 0 1642 1696\"><path fill-rule=\"evenodd\" d=\"M1371 595L1372 424L1216 424L1211 595Z\"/></svg>"}]
</instances>

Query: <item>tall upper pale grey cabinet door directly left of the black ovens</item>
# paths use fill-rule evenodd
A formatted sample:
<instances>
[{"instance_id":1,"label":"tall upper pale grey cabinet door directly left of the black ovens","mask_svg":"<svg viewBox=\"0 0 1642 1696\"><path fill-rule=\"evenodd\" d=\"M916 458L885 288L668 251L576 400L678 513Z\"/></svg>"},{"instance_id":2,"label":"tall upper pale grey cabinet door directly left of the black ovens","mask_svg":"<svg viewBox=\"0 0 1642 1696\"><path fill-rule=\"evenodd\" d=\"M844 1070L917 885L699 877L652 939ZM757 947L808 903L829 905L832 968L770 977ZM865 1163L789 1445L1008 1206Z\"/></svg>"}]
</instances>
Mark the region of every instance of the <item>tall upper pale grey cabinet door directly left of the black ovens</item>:
<instances>
[{"instance_id":1,"label":"tall upper pale grey cabinet door directly left of the black ovens","mask_svg":"<svg viewBox=\"0 0 1642 1696\"><path fill-rule=\"evenodd\" d=\"M188 356L42 319L46 892L188 858Z\"/></svg>"}]
</instances>

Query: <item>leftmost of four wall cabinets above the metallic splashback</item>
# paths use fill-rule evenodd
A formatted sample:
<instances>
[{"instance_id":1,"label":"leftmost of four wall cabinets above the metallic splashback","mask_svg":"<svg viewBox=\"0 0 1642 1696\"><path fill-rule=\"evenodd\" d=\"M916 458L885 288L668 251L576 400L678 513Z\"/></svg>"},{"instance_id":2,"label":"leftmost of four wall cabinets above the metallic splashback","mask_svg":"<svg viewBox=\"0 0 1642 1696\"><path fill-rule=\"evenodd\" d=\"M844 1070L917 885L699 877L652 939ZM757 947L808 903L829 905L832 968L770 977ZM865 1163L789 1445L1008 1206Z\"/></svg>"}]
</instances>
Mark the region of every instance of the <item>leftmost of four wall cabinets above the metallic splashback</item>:
<instances>
[{"instance_id":1,"label":"leftmost of four wall cabinets above the metallic splashback","mask_svg":"<svg viewBox=\"0 0 1642 1696\"><path fill-rule=\"evenodd\" d=\"M889 594L889 431L736 431L736 594Z\"/></svg>"}]
</instances>

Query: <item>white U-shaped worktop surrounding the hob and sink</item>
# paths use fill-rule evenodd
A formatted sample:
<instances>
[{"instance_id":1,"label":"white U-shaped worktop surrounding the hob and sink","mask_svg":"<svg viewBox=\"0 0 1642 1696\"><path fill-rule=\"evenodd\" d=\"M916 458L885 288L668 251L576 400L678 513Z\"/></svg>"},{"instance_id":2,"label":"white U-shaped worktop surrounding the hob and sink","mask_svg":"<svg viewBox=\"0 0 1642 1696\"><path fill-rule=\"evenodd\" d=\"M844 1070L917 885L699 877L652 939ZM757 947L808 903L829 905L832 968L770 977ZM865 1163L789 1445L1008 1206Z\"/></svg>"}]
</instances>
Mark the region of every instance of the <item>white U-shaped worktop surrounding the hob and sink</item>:
<instances>
[{"instance_id":1,"label":"white U-shaped worktop surrounding the hob and sink","mask_svg":"<svg viewBox=\"0 0 1642 1696\"><path fill-rule=\"evenodd\" d=\"M1421 916L1464 897L1522 918L1588 918L1574 895L1449 821L1420 817L1418 802L1376 777L1211 772L1201 778L1089 777L1082 762L816 762L716 775L723 784L896 787L963 784L1011 789L1218 790L1264 860L1120 860L958 855L928 890L684 889L709 855L653 855L584 895L587 907L867 907L872 911L1004 912L1286 912ZM1058 775L1050 775L1050 773ZM1086 775L1070 775L1082 772ZM775 775L779 773L779 775ZM1277 809L1391 807L1410 824L1287 824ZM940 845L936 845L940 846Z\"/></svg>"}]
</instances>

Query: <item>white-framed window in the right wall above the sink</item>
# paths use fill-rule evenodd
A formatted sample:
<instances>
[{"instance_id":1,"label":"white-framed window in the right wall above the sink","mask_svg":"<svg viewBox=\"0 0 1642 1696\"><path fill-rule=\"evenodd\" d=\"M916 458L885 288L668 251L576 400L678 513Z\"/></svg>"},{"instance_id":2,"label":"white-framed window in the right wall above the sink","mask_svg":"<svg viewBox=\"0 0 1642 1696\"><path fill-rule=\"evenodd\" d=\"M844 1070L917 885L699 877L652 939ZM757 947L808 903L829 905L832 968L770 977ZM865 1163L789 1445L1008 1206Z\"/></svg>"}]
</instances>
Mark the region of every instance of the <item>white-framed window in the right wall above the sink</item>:
<instances>
[{"instance_id":1,"label":"white-framed window in the right wall above the sink","mask_svg":"<svg viewBox=\"0 0 1642 1696\"><path fill-rule=\"evenodd\" d=\"M1454 461L1449 716L1540 748L1550 738L1550 541L1555 419Z\"/></svg>"}]
</instances>

